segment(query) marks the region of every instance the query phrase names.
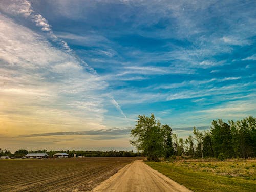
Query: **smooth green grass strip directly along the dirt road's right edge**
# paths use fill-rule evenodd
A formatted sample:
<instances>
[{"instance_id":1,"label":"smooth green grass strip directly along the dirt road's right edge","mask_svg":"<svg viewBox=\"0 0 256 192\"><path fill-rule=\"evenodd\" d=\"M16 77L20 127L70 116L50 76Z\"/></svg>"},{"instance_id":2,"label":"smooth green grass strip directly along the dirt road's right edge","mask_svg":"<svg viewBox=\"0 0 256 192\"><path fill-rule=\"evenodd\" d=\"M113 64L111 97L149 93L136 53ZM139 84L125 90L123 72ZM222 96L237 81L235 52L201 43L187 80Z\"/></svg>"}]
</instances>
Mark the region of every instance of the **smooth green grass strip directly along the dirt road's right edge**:
<instances>
[{"instance_id":1,"label":"smooth green grass strip directly along the dirt road's right edge","mask_svg":"<svg viewBox=\"0 0 256 192\"><path fill-rule=\"evenodd\" d=\"M172 163L146 162L147 165L170 179L184 185L193 191L255 191L256 181L239 178L228 178L225 176L190 170L175 166Z\"/></svg>"}]
</instances>

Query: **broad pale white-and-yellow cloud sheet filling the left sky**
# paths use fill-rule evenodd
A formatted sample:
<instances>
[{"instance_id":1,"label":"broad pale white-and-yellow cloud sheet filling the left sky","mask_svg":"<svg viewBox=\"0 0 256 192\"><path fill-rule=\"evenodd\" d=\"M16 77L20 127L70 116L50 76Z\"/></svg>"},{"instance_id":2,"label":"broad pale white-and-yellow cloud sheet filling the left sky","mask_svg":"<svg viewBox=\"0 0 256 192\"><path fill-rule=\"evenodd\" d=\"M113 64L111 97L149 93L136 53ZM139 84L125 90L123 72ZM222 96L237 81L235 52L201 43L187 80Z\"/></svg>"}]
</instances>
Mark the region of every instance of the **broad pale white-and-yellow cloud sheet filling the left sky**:
<instances>
[{"instance_id":1,"label":"broad pale white-and-yellow cloud sheet filling the left sky","mask_svg":"<svg viewBox=\"0 0 256 192\"><path fill-rule=\"evenodd\" d=\"M75 57L52 47L44 37L15 24L11 19L0 17L0 31L4 34L0 38L1 70L4 72L1 78L5 82L0 92L1 100L9 103L2 105L1 117L7 120L3 112L15 112L9 114L12 118L8 118L15 122L14 127L18 127L19 122L14 120L17 117L23 117L25 124L36 121L40 124L40 119L49 119L52 115L50 119L55 119L54 123L61 121L66 129L71 129L71 119L74 123L84 118L87 122L80 125L77 124L79 121L75 123L78 129L102 129L106 111L103 107L104 97L97 92L104 90L108 84L84 71ZM16 33L17 30L19 33ZM8 98L15 98L18 102L14 104ZM78 103L83 103L80 105L82 108L78 108ZM30 118L23 115L24 105L26 110L31 111ZM83 110L83 113L77 113L74 107ZM76 118L75 114L78 115ZM50 125L51 121L44 123ZM54 129L59 129L56 126ZM50 126L49 129L53 128ZM31 131L36 132L36 128Z\"/></svg>"}]
</instances>

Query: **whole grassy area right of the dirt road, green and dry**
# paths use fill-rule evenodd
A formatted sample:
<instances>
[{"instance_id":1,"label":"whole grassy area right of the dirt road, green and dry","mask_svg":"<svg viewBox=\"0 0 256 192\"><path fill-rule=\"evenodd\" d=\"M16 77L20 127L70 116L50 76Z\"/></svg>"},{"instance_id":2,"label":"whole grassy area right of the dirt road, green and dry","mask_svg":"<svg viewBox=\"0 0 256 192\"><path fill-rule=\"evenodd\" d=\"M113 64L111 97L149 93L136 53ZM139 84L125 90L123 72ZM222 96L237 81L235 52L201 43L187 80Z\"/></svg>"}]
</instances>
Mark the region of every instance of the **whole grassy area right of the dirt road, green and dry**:
<instances>
[{"instance_id":1,"label":"whole grassy area right of the dirt road, green and dry","mask_svg":"<svg viewBox=\"0 0 256 192\"><path fill-rule=\"evenodd\" d=\"M255 191L256 161L182 160L146 162L193 191Z\"/></svg>"}]
</instances>

